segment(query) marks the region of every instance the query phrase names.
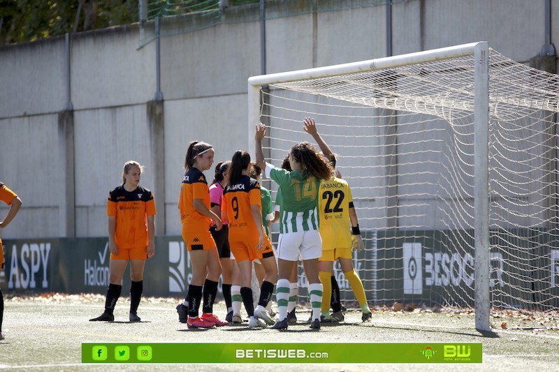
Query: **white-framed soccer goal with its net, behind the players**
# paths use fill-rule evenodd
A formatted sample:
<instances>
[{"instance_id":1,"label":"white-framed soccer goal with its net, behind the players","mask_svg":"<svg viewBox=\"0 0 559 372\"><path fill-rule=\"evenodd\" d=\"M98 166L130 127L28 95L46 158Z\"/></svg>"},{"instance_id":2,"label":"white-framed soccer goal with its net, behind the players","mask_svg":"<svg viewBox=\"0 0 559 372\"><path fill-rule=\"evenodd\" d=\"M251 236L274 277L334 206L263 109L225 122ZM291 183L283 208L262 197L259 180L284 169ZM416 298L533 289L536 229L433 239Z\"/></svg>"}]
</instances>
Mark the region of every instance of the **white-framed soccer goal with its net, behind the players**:
<instances>
[{"instance_id":1,"label":"white-framed soccer goal with its net, behind the players","mask_svg":"<svg viewBox=\"0 0 559 372\"><path fill-rule=\"evenodd\" d=\"M252 151L262 121L279 166L314 117L338 155L369 302L475 308L484 331L492 306L558 310L556 75L480 42L248 83Z\"/></svg>"}]
</instances>

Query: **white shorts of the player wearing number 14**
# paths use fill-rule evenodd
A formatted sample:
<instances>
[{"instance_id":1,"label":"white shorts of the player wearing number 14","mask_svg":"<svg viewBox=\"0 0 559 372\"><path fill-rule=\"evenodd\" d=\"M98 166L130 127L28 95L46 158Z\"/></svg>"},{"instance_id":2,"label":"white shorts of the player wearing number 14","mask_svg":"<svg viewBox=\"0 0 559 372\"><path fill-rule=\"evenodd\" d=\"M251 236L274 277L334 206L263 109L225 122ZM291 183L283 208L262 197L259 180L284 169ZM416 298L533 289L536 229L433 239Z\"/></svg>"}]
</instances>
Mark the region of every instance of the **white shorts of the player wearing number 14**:
<instances>
[{"instance_id":1,"label":"white shorts of the player wearing number 14","mask_svg":"<svg viewBox=\"0 0 559 372\"><path fill-rule=\"evenodd\" d=\"M279 234L277 258L286 261L312 260L322 256L322 239L318 230Z\"/></svg>"}]
</instances>

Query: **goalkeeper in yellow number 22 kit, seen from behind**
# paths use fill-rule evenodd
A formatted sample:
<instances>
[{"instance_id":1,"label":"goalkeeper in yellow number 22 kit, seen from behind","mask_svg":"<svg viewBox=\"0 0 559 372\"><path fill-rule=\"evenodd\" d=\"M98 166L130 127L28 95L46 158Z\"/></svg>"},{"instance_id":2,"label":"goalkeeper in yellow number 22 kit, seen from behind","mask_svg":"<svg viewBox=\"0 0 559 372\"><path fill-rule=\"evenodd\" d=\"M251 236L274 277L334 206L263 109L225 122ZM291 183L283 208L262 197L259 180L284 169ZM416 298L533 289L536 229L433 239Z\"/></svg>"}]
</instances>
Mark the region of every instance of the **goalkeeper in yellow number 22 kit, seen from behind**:
<instances>
[{"instance_id":1,"label":"goalkeeper in yellow number 22 kit, seen from behind","mask_svg":"<svg viewBox=\"0 0 559 372\"><path fill-rule=\"evenodd\" d=\"M319 144L324 156L328 158L335 167L335 155L328 144L318 134L316 123L312 118L303 120L305 132L312 135ZM370 322L372 314L365 297L363 283L357 275L351 251L363 251L365 246L361 239L357 213L355 211L351 189L347 181L332 177L328 181L322 181L319 188L319 232L322 238L322 257L319 258L319 278L323 285L323 296L321 304L321 322L341 322L344 314L341 309L330 314L330 298L332 293L331 276L333 274L334 261L340 262L342 271L354 291L355 297L361 306L363 322ZM351 230L349 230L351 223Z\"/></svg>"}]
</instances>

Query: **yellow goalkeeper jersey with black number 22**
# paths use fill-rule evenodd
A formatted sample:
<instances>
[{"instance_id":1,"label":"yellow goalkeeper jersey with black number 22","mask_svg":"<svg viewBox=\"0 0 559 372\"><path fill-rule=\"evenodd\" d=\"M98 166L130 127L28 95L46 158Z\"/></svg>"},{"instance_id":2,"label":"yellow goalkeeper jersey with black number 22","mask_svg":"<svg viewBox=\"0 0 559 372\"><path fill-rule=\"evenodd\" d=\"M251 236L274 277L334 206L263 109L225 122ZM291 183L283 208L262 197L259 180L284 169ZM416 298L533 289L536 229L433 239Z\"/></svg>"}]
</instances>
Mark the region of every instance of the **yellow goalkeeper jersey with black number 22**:
<instances>
[{"instance_id":1,"label":"yellow goalkeeper jersey with black number 22","mask_svg":"<svg viewBox=\"0 0 559 372\"><path fill-rule=\"evenodd\" d=\"M351 248L349 208L354 207L351 189L346 181L333 177L322 181L319 188L320 236L322 250Z\"/></svg>"}]
</instances>

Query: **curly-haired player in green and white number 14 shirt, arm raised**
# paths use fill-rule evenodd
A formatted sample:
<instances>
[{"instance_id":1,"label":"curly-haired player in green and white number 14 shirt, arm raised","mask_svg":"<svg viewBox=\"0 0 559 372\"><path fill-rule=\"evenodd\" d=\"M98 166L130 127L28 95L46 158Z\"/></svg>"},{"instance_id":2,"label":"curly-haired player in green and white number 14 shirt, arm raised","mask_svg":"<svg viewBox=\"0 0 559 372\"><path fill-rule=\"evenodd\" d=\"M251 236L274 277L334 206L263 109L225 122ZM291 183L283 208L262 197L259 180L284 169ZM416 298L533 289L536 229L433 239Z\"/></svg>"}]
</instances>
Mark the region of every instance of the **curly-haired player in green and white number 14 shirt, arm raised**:
<instances>
[{"instance_id":1,"label":"curly-haired player in green and white number 14 shirt, arm raised","mask_svg":"<svg viewBox=\"0 0 559 372\"><path fill-rule=\"evenodd\" d=\"M276 286L276 300L279 320L273 328L288 327L289 277L300 255L309 283L312 306L310 327L320 329L322 284L319 280L318 259L322 255L322 241L318 231L317 196L320 181L330 179L333 169L309 142L301 142L291 147L289 156L291 172L275 168L264 161L262 140L265 136L266 127L258 124L254 136L256 164L266 169L266 177L273 179L279 185L283 200L277 244L279 280Z\"/></svg>"}]
</instances>

